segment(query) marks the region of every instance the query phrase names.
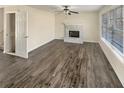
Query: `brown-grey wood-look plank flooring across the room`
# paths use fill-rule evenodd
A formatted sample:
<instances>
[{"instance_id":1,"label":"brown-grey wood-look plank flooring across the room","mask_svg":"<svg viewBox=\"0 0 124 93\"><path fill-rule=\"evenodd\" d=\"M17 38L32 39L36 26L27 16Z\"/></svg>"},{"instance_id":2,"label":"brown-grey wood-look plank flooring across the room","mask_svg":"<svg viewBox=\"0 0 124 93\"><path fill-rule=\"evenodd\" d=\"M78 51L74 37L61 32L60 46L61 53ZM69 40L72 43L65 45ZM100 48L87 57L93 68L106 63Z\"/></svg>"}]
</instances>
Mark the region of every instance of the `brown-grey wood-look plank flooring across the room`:
<instances>
[{"instance_id":1,"label":"brown-grey wood-look plank flooring across the room","mask_svg":"<svg viewBox=\"0 0 124 93\"><path fill-rule=\"evenodd\" d=\"M99 44L53 40L31 52L28 60L0 51L0 87L120 88L122 85Z\"/></svg>"}]
</instances>

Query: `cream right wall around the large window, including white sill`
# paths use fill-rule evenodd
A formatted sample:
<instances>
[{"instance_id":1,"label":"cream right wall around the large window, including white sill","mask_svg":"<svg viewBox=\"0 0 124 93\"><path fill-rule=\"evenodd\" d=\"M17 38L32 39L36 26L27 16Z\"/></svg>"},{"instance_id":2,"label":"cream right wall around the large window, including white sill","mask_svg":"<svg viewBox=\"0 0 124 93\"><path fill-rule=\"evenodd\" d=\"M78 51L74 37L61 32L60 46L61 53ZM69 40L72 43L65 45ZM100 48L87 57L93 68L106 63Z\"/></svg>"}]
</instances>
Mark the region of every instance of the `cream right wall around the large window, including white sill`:
<instances>
[{"instance_id":1,"label":"cream right wall around the large window, including white sill","mask_svg":"<svg viewBox=\"0 0 124 93\"><path fill-rule=\"evenodd\" d=\"M99 30L100 30L100 41L99 44L103 50L103 52L105 53L107 59L109 60L110 64L112 65L114 71L116 72L119 80L121 81L122 85L124 86L124 55L122 53L120 53L120 51L115 48L111 43L109 43L107 40L105 40L104 38L102 38L102 18L101 15L107 11L110 11L111 9L114 9L118 6L111 6L111 7L105 7L105 11L104 8L103 10L99 13ZM107 11L106 11L107 10ZM123 9L123 16L124 16L124 9ZM124 25L123 25L124 27ZM124 33L123 33L124 36ZM123 38L124 39L124 38ZM124 42L124 41L123 41ZM124 43L123 43L124 44Z\"/></svg>"}]
</instances>

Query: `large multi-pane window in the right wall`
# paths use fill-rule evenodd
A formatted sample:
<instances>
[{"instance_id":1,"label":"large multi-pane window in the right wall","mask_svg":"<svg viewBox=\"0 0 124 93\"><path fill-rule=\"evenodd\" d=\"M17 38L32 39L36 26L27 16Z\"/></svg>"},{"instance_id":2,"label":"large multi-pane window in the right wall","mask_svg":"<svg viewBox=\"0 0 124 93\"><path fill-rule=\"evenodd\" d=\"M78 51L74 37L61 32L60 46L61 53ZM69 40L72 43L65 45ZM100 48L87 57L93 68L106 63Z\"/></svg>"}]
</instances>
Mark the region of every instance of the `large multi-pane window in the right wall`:
<instances>
[{"instance_id":1,"label":"large multi-pane window in the right wall","mask_svg":"<svg viewBox=\"0 0 124 93\"><path fill-rule=\"evenodd\" d=\"M124 53L123 48L123 6L119 6L102 15L102 37Z\"/></svg>"}]
</instances>

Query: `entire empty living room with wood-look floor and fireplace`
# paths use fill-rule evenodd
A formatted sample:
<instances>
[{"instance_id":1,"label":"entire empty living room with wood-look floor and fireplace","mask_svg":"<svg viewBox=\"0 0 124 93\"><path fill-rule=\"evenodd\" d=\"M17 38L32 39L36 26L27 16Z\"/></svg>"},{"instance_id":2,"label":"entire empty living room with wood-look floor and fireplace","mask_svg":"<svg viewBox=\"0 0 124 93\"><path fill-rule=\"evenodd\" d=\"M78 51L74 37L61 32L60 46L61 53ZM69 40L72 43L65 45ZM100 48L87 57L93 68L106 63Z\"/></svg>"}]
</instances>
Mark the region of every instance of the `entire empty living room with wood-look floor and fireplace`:
<instances>
[{"instance_id":1,"label":"entire empty living room with wood-look floor and fireplace","mask_svg":"<svg viewBox=\"0 0 124 93\"><path fill-rule=\"evenodd\" d=\"M123 87L123 7L1 5L0 87Z\"/></svg>"}]
</instances>

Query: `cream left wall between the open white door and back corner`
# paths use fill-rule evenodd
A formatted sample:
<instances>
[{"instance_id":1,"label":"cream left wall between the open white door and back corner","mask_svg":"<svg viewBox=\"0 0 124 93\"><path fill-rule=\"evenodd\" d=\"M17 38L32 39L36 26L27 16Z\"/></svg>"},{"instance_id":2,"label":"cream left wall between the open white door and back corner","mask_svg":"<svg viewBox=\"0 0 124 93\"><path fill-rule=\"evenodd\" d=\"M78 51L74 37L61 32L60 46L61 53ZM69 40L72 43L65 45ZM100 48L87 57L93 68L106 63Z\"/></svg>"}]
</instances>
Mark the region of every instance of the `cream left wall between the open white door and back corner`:
<instances>
[{"instance_id":1,"label":"cream left wall between the open white door and back corner","mask_svg":"<svg viewBox=\"0 0 124 93\"><path fill-rule=\"evenodd\" d=\"M28 12L28 52L54 39L55 16L53 13L29 6L8 6L5 7L5 12L7 11Z\"/></svg>"}]
</instances>

